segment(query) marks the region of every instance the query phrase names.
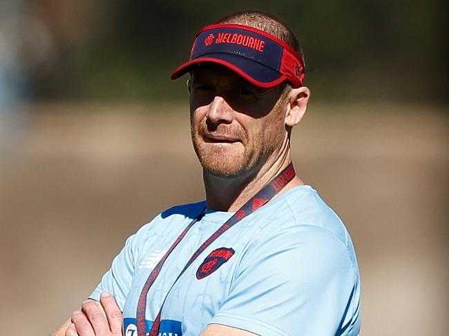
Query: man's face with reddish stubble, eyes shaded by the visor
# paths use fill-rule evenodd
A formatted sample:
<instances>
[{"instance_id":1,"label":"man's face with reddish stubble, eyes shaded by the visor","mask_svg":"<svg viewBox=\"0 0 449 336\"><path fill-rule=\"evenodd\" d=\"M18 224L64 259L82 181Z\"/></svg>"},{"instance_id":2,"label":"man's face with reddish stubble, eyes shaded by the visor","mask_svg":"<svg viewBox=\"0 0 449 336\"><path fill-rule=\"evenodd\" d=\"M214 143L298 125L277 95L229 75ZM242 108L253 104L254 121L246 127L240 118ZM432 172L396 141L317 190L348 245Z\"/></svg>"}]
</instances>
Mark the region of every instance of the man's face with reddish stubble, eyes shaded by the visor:
<instances>
[{"instance_id":1,"label":"man's face with reddish stubble, eyes shaded by the visor","mask_svg":"<svg viewBox=\"0 0 449 336\"><path fill-rule=\"evenodd\" d=\"M204 170L238 177L276 161L287 141L283 87L258 88L213 63L193 68L191 136Z\"/></svg>"}]
</instances>

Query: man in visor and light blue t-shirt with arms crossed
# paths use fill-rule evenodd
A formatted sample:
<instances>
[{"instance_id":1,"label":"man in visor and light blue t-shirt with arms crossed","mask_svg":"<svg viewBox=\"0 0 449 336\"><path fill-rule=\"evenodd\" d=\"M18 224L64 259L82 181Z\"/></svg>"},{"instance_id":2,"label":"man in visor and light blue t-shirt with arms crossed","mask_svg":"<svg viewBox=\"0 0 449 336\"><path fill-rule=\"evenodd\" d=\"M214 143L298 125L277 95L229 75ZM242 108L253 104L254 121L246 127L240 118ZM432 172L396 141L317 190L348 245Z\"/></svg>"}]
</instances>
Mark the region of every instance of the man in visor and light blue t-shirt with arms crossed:
<instances>
[{"instance_id":1,"label":"man in visor and light blue t-shirt with arms crossed","mask_svg":"<svg viewBox=\"0 0 449 336\"><path fill-rule=\"evenodd\" d=\"M129 237L56 335L359 335L350 235L290 164L310 95L296 37L232 14L198 32L172 78L187 72L206 201Z\"/></svg>"}]
</instances>

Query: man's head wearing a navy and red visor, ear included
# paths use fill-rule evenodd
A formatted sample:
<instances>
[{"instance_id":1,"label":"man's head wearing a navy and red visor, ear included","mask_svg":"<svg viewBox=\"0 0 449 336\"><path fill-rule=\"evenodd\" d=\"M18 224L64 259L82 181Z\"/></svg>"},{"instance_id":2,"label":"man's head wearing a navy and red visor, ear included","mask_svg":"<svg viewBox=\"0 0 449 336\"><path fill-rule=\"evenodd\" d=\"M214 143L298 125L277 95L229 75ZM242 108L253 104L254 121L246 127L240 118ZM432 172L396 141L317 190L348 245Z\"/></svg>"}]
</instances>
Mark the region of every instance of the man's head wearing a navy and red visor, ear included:
<instances>
[{"instance_id":1,"label":"man's head wearing a navy and red visor, ear included","mask_svg":"<svg viewBox=\"0 0 449 336\"><path fill-rule=\"evenodd\" d=\"M206 172L238 177L289 159L289 133L309 98L299 50L294 34L261 12L200 30L172 78L191 74L191 135Z\"/></svg>"}]
</instances>

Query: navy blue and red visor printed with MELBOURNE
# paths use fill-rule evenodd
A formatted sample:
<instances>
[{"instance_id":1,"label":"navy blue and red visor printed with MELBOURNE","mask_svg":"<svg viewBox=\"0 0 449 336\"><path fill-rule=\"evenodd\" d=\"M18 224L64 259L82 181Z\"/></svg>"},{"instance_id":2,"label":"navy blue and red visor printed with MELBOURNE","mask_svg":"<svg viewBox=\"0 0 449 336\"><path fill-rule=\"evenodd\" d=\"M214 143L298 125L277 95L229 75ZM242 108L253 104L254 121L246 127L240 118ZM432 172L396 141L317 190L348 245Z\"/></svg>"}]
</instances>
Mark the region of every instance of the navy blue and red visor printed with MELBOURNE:
<instances>
[{"instance_id":1,"label":"navy blue and red visor printed with MELBOURNE","mask_svg":"<svg viewBox=\"0 0 449 336\"><path fill-rule=\"evenodd\" d=\"M284 81L294 88L303 85L304 61L298 52L277 37L248 26L222 23L202 28L189 61L177 68L171 79L178 79L191 66L204 62L226 66L262 88Z\"/></svg>"}]
</instances>

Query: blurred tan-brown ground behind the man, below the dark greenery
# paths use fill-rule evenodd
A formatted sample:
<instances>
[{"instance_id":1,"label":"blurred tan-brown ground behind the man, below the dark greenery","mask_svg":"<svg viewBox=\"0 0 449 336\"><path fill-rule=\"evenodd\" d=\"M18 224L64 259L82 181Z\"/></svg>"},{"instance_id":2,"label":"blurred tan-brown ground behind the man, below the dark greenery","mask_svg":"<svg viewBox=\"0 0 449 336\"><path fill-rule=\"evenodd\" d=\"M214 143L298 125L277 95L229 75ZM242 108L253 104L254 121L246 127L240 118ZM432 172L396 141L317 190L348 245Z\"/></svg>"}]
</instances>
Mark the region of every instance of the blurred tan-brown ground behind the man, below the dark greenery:
<instances>
[{"instance_id":1,"label":"blurred tan-brown ground behind the man, below the dark greenery","mask_svg":"<svg viewBox=\"0 0 449 336\"><path fill-rule=\"evenodd\" d=\"M128 235L202 199L202 180L187 108L52 104L20 120L0 146L0 325L46 335ZM429 106L312 103L294 131L298 175L352 233L362 335L447 335L448 121Z\"/></svg>"}]
</instances>

